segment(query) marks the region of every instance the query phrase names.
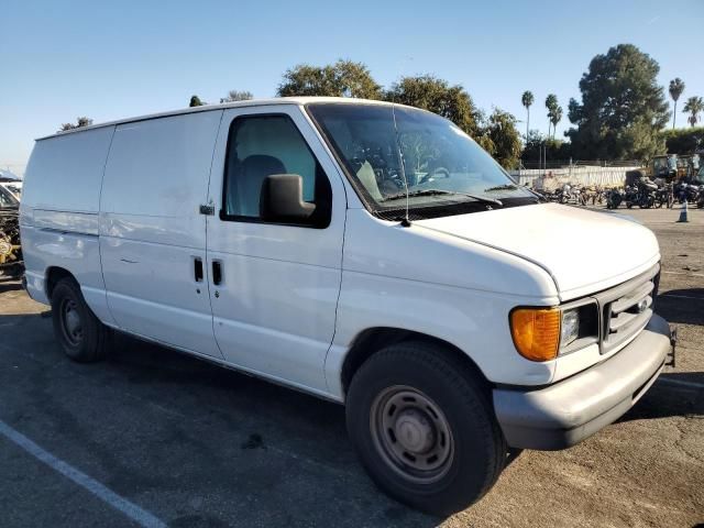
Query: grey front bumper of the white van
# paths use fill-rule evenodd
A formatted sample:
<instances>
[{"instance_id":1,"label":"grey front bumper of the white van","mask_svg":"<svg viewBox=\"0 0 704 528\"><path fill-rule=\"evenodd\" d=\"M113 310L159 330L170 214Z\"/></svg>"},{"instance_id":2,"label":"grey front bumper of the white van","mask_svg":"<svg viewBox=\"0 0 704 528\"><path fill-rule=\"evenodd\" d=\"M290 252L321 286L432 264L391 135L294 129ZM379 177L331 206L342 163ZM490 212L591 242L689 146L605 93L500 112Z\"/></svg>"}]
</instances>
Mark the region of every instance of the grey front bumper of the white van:
<instances>
[{"instance_id":1,"label":"grey front bumper of the white van","mask_svg":"<svg viewBox=\"0 0 704 528\"><path fill-rule=\"evenodd\" d=\"M562 382L526 391L495 388L494 409L513 448L569 448L617 420L654 383L673 348L668 322L648 326L613 358Z\"/></svg>"}]
</instances>

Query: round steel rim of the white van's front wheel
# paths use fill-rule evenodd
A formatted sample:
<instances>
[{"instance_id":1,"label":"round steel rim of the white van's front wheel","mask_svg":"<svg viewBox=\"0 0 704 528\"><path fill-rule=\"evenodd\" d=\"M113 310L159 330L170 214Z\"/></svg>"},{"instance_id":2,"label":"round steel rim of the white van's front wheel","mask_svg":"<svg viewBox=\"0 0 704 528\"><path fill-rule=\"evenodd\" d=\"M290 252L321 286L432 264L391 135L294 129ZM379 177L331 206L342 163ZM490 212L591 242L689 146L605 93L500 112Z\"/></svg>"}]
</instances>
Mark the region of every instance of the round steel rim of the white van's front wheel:
<instances>
[{"instance_id":1,"label":"round steel rim of the white van's front wheel","mask_svg":"<svg viewBox=\"0 0 704 528\"><path fill-rule=\"evenodd\" d=\"M370 414L372 439L386 464L406 480L429 484L442 479L454 458L454 439L440 407L406 385L382 391Z\"/></svg>"}]
</instances>

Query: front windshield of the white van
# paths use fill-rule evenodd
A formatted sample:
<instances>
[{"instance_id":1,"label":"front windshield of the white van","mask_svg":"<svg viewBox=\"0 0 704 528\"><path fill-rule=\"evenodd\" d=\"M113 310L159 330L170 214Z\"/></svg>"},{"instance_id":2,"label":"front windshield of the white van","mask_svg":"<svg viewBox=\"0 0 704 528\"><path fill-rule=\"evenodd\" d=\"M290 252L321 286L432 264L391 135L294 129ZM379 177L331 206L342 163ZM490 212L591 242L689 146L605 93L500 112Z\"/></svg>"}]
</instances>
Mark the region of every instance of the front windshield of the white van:
<instances>
[{"instance_id":1,"label":"front windshield of the white van","mask_svg":"<svg viewBox=\"0 0 704 528\"><path fill-rule=\"evenodd\" d=\"M406 189L409 210L451 202L466 205L468 210L457 212L469 212L512 200L518 205L516 199L536 201L439 116L391 105L312 103L307 109L374 212L405 208Z\"/></svg>"}]
</instances>

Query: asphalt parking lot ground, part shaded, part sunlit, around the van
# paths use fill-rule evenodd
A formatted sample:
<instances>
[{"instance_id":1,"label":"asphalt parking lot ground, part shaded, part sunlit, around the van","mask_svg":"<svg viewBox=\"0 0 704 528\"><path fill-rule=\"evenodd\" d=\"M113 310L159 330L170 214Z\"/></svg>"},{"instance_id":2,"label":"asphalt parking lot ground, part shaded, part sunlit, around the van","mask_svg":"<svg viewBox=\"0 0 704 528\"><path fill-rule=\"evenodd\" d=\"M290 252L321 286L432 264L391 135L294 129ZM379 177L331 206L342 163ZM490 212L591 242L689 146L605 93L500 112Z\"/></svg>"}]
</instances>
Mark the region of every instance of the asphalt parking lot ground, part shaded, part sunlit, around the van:
<instances>
[{"instance_id":1,"label":"asphalt parking lot ground, part shaded, part sunlit, around the van","mask_svg":"<svg viewBox=\"0 0 704 528\"><path fill-rule=\"evenodd\" d=\"M704 210L689 223L676 209L617 213L660 241L658 311L679 328L676 367L580 446L522 452L447 519L374 487L341 406L127 337L102 363L72 363L46 307L0 278L0 526L704 522Z\"/></svg>"}]
</instances>

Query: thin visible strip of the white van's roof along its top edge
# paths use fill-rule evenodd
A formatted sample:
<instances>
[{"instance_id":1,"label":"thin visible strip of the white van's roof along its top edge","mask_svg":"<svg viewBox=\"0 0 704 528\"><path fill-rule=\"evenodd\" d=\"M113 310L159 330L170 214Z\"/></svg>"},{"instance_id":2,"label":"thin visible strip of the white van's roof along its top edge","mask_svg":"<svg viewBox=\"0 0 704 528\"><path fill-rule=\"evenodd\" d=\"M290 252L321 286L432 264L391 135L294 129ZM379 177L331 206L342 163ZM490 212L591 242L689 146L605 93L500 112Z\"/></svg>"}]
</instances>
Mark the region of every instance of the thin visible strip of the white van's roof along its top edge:
<instances>
[{"instance_id":1,"label":"thin visible strip of the white van's roof along its top edge","mask_svg":"<svg viewBox=\"0 0 704 528\"><path fill-rule=\"evenodd\" d=\"M51 138L57 138L66 134L75 134L78 132L85 132L88 130L101 129L103 127L114 127L116 124L133 123L136 121L146 121L148 119L167 118L170 116L182 116L185 113L196 112L210 112L213 110L222 110L224 108L240 108L240 107L267 107L274 105L307 105L309 102L341 102L341 103L365 103L365 105L391 105L387 101L378 101L372 99L354 99L351 97L277 97L271 99L249 99L246 101L223 102L220 105L204 105L201 107L193 108L179 108L177 110L169 110L166 112L150 113L146 116L139 116L134 118L119 119L116 121L108 121L105 123L91 124L89 127L80 127L78 129L64 130L55 132L53 134L37 138L35 141L48 140Z\"/></svg>"}]
</instances>

